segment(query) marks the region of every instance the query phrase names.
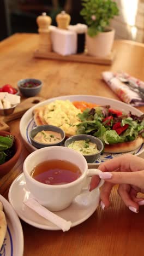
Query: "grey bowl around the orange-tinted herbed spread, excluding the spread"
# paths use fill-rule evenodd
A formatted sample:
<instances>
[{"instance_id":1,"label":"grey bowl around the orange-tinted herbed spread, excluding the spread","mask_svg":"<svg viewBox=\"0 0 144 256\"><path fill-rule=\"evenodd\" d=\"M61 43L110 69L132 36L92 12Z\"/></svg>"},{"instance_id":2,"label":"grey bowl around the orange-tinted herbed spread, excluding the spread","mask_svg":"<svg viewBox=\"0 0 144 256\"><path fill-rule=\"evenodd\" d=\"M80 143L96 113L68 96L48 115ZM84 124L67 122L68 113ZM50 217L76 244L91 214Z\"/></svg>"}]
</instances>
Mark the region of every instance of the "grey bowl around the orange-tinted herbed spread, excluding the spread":
<instances>
[{"instance_id":1,"label":"grey bowl around the orange-tinted herbed spread, excluding the spread","mask_svg":"<svg viewBox=\"0 0 144 256\"><path fill-rule=\"evenodd\" d=\"M62 136L62 139L61 141L58 141L56 143L40 143L40 142L37 142L35 141L33 138L35 135L37 135L38 132L40 131L55 131L55 132L58 132L61 134ZM57 126L54 126L54 125L40 125L40 126L37 126L36 128L32 129L30 132L29 132L29 138L31 139L31 143L32 145L35 147L35 148L45 148L45 147L51 147L51 146L61 146L63 141L64 141L64 138L65 138L65 132L57 127Z\"/></svg>"}]
</instances>

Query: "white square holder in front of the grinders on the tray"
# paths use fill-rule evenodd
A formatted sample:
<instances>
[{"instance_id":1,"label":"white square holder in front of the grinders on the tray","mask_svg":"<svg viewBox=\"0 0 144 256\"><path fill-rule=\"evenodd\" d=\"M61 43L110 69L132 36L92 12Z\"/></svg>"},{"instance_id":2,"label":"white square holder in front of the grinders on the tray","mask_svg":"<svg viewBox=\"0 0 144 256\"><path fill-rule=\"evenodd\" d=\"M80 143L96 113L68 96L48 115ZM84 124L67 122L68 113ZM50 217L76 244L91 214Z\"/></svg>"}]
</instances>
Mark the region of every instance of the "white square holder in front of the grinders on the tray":
<instances>
[{"instance_id":1,"label":"white square holder in front of the grinders on the tray","mask_svg":"<svg viewBox=\"0 0 144 256\"><path fill-rule=\"evenodd\" d=\"M51 31L52 49L55 53L63 56L76 54L77 35L75 31L61 30L56 28Z\"/></svg>"}]
</instances>

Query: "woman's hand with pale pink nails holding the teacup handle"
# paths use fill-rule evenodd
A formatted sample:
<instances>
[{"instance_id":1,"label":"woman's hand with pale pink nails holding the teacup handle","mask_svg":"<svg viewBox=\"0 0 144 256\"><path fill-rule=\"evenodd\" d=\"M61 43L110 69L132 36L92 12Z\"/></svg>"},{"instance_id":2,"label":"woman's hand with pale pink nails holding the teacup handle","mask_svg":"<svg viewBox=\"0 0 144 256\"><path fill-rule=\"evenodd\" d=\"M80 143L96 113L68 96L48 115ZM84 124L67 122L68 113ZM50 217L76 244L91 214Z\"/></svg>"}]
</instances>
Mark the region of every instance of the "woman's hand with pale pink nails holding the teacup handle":
<instances>
[{"instance_id":1,"label":"woman's hand with pale pink nails holding the teacup handle","mask_svg":"<svg viewBox=\"0 0 144 256\"><path fill-rule=\"evenodd\" d=\"M104 173L100 178L105 180L101 188L101 207L106 209L110 205L110 194L113 185L119 184L118 194L125 205L133 212L139 212L139 206L144 205L143 198L137 198L137 193L144 193L144 160L131 154L124 154L104 162L99 166ZM91 188L93 190L99 183L99 177L93 176Z\"/></svg>"}]
</instances>

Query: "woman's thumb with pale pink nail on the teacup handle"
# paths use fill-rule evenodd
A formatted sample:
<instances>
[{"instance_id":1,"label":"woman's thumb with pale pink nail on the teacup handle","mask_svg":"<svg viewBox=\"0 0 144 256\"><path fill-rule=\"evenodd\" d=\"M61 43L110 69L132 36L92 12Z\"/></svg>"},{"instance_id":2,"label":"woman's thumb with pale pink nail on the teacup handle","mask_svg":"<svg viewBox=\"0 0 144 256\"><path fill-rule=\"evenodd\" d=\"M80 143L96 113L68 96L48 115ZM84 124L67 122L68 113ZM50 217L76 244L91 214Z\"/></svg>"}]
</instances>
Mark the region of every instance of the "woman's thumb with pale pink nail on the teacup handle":
<instances>
[{"instance_id":1,"label":"woman's thumb with pale pink nail on the teacup handle","mask_svg":"<svg viewBox=\"0 0 144 256\"><path fill-rule=\"evenodd\" d=\"M144 188L144 171L138 172L101 172L101 179L114 184L130 184Z\"/></svg>"}]
</instances>

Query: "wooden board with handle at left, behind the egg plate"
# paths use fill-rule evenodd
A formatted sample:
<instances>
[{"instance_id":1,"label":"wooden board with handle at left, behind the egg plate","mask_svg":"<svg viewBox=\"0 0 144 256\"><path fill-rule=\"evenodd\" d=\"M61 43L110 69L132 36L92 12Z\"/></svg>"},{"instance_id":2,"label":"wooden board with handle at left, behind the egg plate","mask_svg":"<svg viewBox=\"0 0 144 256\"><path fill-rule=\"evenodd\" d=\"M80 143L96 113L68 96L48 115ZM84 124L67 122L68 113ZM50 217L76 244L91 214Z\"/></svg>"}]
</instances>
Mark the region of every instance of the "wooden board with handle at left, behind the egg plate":
<instances>
[{"instance_id":1,"label":"wooden board with handle at left, behind the egg plate","mask_svg":"<svg viewBox=\"0 0 144 256\"><path fill-rule=\"evenodd\" d=\"M0 115L0 131L9 131L9 125L7 124L9 121L21 118L29 108L44 100L42 97L29 97L18 104L12 114Z\"/></svg>"}]
</instances>

